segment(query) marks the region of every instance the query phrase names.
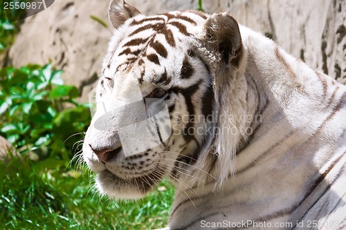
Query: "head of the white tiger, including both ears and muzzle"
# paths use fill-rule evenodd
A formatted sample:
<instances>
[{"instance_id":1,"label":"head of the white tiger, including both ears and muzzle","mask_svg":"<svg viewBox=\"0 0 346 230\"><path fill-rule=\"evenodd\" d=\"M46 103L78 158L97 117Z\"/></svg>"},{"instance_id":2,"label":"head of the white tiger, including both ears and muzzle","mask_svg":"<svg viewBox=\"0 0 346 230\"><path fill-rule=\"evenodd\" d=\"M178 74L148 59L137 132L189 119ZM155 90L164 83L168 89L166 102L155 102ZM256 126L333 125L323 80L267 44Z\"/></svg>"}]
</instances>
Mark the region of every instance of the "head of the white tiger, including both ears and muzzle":
<instances>
[{"instance_id":1,"label":"head of the white tiger, including both ears and muzzle","mask_svg":"<svg viewBox=\"0 0 346 230\"><path fill-rule=\"evenodd\" d=\"M244 71L237 22L192 10L146 17L120 0L109 19L116 31L83 145L98 189L138 198L165 176L215 180L215 162L225 162L217 146L223 88Z\"/></svg>"}]
</instances>

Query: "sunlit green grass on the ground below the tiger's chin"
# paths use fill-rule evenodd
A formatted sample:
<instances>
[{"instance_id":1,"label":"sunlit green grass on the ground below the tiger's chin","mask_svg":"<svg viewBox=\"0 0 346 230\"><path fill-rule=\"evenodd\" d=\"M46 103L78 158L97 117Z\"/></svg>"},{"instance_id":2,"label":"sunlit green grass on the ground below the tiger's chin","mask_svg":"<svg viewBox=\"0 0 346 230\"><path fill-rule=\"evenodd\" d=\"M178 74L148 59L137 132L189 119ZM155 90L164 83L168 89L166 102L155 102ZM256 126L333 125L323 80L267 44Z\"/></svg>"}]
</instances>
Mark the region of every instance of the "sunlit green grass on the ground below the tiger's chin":
<instances>
[{"instance_id":1,"label":"sunlit green grass on the ground below the tiger's chin","mask_svg":"<svg viewBox=\"0 0 346 230\"><path fill-rule=\"evenodd\" d=\"M174 196L169 182L141 200L115 201L93 192L93 175L82 174L72 168L42 170L26 160L0 162L0 229L156 229L167 224Z\"/></svg>"}]
</instances>

